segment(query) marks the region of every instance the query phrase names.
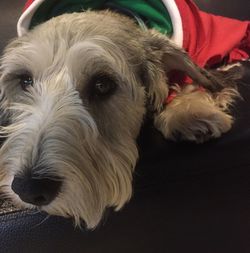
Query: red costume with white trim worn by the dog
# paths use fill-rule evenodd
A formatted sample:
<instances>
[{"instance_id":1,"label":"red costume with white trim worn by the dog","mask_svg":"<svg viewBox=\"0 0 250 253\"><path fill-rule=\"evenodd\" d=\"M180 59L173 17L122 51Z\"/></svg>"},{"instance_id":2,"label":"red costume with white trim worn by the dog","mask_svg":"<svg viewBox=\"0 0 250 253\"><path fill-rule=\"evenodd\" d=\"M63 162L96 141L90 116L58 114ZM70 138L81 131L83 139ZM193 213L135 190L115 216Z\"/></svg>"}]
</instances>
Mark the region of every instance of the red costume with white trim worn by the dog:
<instances>
[{"instance_id":1,"label":"red costume with white trim worn by the dog","mask_svg":"<svg viewBox=\"0 0 250 253\"><path fill-rule=\"evenodd\" d=\"M46 1L27 1L18 21L19 36L27 32L34 13ZM183 47L200 67L213 67L250 58L250 21L205 13L191 0L162 0L162 3L171 18L171 40ZM167 102L173 97L171 94Z\"/></svg>"}]
</instances>

